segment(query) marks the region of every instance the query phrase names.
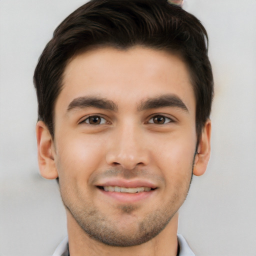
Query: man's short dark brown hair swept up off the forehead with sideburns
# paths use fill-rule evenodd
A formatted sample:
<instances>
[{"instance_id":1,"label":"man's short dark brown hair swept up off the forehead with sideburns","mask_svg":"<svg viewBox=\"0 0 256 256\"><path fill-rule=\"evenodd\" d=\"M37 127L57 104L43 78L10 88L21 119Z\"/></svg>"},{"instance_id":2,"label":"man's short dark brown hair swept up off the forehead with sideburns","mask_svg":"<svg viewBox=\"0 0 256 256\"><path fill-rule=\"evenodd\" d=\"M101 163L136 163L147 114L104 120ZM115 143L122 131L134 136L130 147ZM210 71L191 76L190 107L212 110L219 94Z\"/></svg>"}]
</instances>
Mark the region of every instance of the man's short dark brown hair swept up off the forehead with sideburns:
<instances>
[{"instance_id":1,"label":"man's short dark brown hair swept up off the forehead with sideburns","mask_svg":"<svg viewBox=\"0 0 256 256\"><path fill-rule=\"evenodd\" d=\"M91 0L55 29L34 71L38 120L54 136L54 103L67 61L96 46L126 49L143 45L178 54L187 64L196 99L197 137L209 117L213 77L207 32L200 21L167 0Z\"/></svg>"}]
</instances>

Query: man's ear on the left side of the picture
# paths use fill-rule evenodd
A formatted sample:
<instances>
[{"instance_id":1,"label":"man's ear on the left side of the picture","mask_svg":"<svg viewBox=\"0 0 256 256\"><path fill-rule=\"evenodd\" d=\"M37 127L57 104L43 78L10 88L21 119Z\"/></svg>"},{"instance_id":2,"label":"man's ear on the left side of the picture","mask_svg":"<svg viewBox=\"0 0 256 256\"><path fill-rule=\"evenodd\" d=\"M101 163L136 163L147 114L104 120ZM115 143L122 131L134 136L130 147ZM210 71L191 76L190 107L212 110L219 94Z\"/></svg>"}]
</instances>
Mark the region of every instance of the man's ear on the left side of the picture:
<instances>
[{"instance_id":1,"label":"man's ear on the left side of the picture","mask_svg":"<svg viewBox=\"0 0 256 256\"><path fill-rule=\"evenodd\" d=\"M38 121L35 131L40 174L42 177L48 179L57 178L58 173L54 161L54 144L49 129L43 121Z\"/></svg>"}]
</instances>

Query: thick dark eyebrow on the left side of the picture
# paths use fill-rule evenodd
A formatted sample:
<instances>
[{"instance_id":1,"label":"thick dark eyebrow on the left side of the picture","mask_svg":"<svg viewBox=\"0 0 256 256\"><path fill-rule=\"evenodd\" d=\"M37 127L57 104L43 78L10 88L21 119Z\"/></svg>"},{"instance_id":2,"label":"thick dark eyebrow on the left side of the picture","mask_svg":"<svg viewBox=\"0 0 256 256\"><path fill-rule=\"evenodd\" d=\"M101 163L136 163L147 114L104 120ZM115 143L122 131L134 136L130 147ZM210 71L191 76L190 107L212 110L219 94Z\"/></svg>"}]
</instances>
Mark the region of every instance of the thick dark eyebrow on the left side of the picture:
<instances>
[{"instance_id":1,"label":"thick dark eyebrow on the left side of the picture","mask_svg":"<svg viewBox=\"0 0 256 256\"><path fill-rule=\"evenodd\" d=\"M95 96L83 96L74 98L67 107L67 112L85 107L96 107L101 109L107 109L111 111L117 111L117 105L112 101L102 97Z\"/></svg>"}]
</instances>

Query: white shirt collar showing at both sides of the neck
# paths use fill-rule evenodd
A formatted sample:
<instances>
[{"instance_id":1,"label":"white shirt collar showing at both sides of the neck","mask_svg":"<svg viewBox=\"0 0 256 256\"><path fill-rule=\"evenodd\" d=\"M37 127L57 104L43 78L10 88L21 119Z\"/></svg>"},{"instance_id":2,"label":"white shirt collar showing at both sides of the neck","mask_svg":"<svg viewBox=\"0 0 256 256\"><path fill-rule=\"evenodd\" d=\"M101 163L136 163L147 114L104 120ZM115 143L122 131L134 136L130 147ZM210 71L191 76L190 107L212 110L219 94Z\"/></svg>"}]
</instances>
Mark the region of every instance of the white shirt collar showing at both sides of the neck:
<instances>
[{"instance_id":1,"label":"white shirt collar showing at both sides of the neck","mask_svg":"<svg viewBox=\"0 0 256 256\"><path fill-rule=\"evenodd\" d=\"M195 254L190 249L185 238L181 234L177 234L178 244L179 244L179 254L178 256L195 256ZM63 241L57 246L52 256L68 256L68 238L67 236Z\"/></svg>"}]
</instances>

